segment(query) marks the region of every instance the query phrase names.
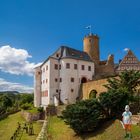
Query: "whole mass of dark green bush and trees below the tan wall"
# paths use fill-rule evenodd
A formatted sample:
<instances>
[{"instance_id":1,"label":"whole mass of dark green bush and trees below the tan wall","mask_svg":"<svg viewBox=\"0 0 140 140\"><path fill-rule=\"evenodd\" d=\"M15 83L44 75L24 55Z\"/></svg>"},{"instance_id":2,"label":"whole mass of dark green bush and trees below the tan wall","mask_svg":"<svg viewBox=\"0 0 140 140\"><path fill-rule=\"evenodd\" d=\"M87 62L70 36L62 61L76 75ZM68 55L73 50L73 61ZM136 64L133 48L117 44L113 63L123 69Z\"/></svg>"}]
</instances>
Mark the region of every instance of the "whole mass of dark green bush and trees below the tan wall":
<instances>
[{"instance_id":1,"label":"whole mass of dark green bush and trees below the tan wall","mask_svg":"<svg viewBox=\"0 0 140 140\"><path fill-rule=\"evenodd\" d=\"M92 95L89 100L68 105L62 112L62 118L76 133L93 131L101 119L122 114L126 104L134 107L140 103L138 94L135 94L139 85L140 72L125 71L118 78L108 79L105 85L107 92L101 93L98 98L92 98Z\"/></svg>"}]
</instances>

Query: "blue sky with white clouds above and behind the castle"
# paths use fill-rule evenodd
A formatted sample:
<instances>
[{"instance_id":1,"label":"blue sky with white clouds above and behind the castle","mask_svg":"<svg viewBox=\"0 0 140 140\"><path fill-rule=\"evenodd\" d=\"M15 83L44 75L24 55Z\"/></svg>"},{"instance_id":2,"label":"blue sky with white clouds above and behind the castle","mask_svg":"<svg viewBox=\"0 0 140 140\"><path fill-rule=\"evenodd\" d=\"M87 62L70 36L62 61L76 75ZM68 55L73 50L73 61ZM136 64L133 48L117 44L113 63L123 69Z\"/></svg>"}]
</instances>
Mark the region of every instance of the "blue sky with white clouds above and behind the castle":
<instances>
[{"instance_id":1,"label":"blue sky with white clouds above and behind the castle","mask_svg":"<svg viewBox=\"0 0 140 140\"><path fill-rule=\"evenodd\" d=\"M102 60L114 54L117 63L125 48L140 59L139 0L1 0L0 90L32 90L31 66L61 45L82 50L88 25Z\"/></svg>"}]
</instances>

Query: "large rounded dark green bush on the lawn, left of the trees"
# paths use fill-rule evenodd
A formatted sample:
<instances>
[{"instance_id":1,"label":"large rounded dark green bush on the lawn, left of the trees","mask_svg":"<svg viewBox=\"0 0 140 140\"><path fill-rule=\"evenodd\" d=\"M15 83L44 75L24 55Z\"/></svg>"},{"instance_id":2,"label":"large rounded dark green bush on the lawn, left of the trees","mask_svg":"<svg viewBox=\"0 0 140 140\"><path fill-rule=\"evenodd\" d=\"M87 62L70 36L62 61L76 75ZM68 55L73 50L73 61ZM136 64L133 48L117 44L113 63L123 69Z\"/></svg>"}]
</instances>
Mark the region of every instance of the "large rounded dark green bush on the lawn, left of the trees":
<instances>
[{"instance_id":1,"label":"large rounded dark green bush on the lawn, left of the trees","mask_svg":"<svg viewBox=\"0 0 140 140\"><path fill-rule=\"evenodd\" d=\"M101 107L97 100L89 99L68 105L62 118L76 132L93 131L100 121Z\"/></svg>"}]
</instances>

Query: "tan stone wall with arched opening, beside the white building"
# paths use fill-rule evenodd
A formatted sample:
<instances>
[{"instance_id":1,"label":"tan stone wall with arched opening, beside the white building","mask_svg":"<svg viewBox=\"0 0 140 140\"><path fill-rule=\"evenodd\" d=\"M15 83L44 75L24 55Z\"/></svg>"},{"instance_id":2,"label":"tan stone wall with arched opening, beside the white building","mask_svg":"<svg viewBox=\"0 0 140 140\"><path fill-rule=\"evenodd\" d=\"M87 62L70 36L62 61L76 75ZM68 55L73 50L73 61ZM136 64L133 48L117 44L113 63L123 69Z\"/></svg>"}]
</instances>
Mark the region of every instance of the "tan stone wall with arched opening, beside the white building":
<instances>
[{"instance_id":1,"label":"tan stone wall with arched opening, beside the white building","mask_svg":"<svg viewBox=\"0 0 140 140\"><path fill-rule=\"evenodd\" d=\"M83 99L88 99L89 98L89 94L92 90L96 90L97 91L97 96L101 93L101 92L105 92L107 89L103 86L107 84L107 78L105 79L100 79L100 80L96 80L96 81L91 81L91 82L87 82L84 83L82 85L82 98Z\"/></svg>"}]
</instances>

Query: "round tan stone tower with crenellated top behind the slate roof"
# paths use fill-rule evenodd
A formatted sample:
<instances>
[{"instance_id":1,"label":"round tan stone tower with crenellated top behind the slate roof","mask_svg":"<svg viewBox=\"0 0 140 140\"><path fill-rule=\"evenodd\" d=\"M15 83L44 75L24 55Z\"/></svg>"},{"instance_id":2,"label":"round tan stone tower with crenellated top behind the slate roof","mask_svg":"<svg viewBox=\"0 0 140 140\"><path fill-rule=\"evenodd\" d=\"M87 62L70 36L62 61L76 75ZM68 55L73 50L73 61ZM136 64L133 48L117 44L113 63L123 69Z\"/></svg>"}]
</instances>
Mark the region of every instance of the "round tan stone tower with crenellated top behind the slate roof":
<instances>
[{"instance_id":1,"label":"round tan stone tower with crenellated top behind the slate roof","mask_svg":"<svg viewBox=\"0 0 140 140\"><path fill-rule=\"evenodd\" d=\"M97 35L89 34L83 39L84 52L86 52L90 58L99 64L100 51L99 51L99 37Z\"/></svg>"}]
</instances>

